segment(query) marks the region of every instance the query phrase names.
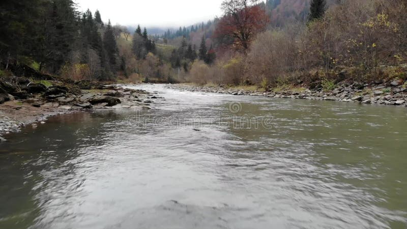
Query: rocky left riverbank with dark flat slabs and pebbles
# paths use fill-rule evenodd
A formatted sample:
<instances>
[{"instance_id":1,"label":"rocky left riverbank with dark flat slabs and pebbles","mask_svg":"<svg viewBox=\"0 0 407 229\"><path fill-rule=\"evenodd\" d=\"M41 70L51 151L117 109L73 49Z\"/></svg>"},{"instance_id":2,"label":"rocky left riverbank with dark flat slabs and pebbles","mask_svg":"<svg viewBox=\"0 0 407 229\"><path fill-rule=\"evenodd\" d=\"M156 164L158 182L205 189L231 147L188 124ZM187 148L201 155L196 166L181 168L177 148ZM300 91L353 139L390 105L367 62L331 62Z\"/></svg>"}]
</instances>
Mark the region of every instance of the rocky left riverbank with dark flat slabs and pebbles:
<instances>
[{"instance_id":1,"label":"rocky left riverbank with dark flat slabs and pebbles","mask_svg":"<svg viewBox=\"0 0 407 229\"><path fill-rule=\"evenodd\" d=\"M18 132L26 125L38 125L59 113L95 109L150 109L158 97L143 90L90 81L52 81L46 86L26 78L0 78L0 136ZM1 138L0 140L5 140Z\"/></svg>"}]
</instances>

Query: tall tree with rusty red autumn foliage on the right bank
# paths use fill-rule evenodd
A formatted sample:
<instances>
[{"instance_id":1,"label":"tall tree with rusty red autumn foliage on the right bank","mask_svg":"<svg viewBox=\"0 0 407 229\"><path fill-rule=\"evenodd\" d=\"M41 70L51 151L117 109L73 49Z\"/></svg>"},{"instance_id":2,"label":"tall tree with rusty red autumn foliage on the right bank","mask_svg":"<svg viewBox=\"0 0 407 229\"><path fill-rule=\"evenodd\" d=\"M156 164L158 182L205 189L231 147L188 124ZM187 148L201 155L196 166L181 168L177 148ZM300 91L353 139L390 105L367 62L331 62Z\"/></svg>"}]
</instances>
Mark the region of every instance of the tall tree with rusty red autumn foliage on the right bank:
<instances>
[{"instance_id":1,"label":"tall tree with rusty red autumn foliage on the right bank","mask_svg":"<svg viewBox=\"0 0 407 229\"><path fill-rule=\"evenodd\" d=\"M226 45L244 54L249 49L254 35L266 30L270 17L257 0L224 0L223 17L220 19L215 37Z\"/></svg>"}]
</instances>

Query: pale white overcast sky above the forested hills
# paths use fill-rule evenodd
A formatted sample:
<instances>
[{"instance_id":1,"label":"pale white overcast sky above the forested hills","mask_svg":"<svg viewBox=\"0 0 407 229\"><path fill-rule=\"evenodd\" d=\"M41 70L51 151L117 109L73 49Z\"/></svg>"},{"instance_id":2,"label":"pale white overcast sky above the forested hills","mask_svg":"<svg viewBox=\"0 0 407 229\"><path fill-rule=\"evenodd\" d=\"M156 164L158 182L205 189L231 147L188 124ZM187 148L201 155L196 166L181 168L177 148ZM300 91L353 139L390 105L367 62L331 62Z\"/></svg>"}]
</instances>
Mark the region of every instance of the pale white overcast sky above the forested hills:
<instances>
[{"instance_id":1,"label":"pale white overcast sky above the forested hills","mask_svg":"<svg viewBox=\"0 0 407 229\"><path fill-rule=\"evenodd\" d=\"M222 0L75 0L80 11L98 9L112 24L178 27L221 16Z\"/></svg>"}]
</instances>

